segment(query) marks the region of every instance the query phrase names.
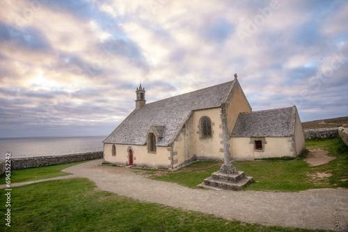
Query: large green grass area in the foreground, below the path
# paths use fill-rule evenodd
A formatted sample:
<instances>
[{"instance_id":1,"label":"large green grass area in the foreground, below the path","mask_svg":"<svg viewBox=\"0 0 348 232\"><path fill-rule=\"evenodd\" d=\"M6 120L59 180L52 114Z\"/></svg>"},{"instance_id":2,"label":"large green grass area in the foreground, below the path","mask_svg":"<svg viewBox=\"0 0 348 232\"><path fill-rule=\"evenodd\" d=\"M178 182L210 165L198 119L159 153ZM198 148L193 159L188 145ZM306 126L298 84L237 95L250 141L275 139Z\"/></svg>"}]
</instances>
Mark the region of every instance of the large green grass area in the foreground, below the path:
<instances>
[{"instance_id":1,"label":"large green grass area in the foreground, below the path","mask_svg":"<svg viewBox=\"0 0 348 232\"><path fill-rule=\"evenodd\" d=\"M0 190L0 202L5 202ZM0 231L318 231L262 226L145 203L97 190L87 179L13 188L11 226L0 204Z\"/></svg>"}]
</instances>

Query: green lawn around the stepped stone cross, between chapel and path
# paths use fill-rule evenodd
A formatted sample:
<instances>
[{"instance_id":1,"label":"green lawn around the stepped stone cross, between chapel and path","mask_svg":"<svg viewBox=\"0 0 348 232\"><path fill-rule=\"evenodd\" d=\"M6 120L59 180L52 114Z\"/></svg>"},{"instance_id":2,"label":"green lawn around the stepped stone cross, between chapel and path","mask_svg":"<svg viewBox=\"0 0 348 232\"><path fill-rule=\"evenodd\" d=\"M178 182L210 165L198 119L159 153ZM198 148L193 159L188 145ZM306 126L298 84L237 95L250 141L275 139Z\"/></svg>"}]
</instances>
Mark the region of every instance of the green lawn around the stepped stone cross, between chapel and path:
<instances>
[{"instance_id":1,"label":"green lawn around the stepped stone cross, between chapel and path","mask_svg":"<svg viewBox=\"0 0 348 232\"><path fill-rule=\"evenodd\" d=\"M307 140L308 149L322 148L329 151L329 156L336 159L324 165L310 167L301 158L294 160L245 160L233 161L237 170L244 171L246 176L253 176L255 183L245 190L269 191L301 191L313 188L348 188L348 147L340 138L328 140ZM196 185L213 172L219 170L221 162L197 162L183 167L176 172L146 170L149 178L158 181L179 183L189 188ZM333 176L324 179L313 179L308 174L331 173Z\"/></svg>"}]
</instances>

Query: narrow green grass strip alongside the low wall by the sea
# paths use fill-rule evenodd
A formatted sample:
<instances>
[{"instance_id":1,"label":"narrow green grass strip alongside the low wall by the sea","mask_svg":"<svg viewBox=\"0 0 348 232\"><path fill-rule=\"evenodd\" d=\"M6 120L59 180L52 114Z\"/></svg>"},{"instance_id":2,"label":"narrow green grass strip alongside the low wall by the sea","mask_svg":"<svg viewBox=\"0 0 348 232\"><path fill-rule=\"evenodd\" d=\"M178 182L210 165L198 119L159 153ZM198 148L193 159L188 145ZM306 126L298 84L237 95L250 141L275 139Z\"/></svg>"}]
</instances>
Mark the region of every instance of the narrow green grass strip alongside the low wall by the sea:
<instances>
[{"instance_id":1,"label":"narrow green grass strip alongside the low wall by the sea","mask_svg":"<svg viewBox=\"0 0 348 232\"><path fill-rule=\"evenodd\" d=\"M77 162L77 163L67 163L64 165L53 165L53 166L47 166L47 167L33 167L28 169L22 169L22 170L13 170L11 171L11 183L19 183L19 182L26 182L26 181L38 181L42 179L48 179L56 176L67 176L70 175L70 173L61 172L62 169L65 169L67 167L71 167L74 165L78 165L79 163L83 162ZM0 184L5 184L6 176L3 174L0 176Z\"/></svg>"}]
</instances>

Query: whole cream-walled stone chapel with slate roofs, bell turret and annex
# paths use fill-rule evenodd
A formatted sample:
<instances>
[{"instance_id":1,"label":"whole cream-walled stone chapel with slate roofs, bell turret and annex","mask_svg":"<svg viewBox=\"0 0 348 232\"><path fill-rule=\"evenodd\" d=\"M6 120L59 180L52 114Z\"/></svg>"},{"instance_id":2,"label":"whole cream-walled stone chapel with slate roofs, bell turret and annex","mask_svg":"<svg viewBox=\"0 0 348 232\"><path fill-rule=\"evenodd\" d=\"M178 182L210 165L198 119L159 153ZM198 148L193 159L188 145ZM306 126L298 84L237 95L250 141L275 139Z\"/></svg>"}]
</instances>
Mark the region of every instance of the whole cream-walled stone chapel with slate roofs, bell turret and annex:
<instances>
[{"instance_id":1,"label":"whole cream-walled stone chapel with slate roofs, bell turret and annex","mask_svg":"<svg viewBox=\"0 0 348 232\"><path fill-rule=\"evenodd\" d=\"M174 169L196 160L223 160L221 110L226 110L231 158L297 156L305 147L296 106L252 111L233 81L152 103L136 89L136 108L103 141L104 161Z\"/></svg>"}]
</instances>

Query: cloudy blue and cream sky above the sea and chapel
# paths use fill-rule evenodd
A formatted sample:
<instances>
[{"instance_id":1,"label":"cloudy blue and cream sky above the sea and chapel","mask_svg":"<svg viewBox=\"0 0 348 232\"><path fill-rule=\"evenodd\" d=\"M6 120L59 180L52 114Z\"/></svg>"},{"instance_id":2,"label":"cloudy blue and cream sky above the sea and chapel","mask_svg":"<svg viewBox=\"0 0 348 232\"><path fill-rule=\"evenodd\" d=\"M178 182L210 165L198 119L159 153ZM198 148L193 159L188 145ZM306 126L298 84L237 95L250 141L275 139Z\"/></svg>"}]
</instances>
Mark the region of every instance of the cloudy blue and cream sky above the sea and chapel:
<instances>
[{"instance_id":1,"label":"cloudy blue and cream sky above the sea and chapel","mask_svg":"<svg viewBox=\"0 0 348 232\"><path fill-rule=\"evenodd\" d=\"M348 115L348 1L0 1L0 138L108 135L135 107L231 81L253 110Z\"/></svg>"}]
</instances>

